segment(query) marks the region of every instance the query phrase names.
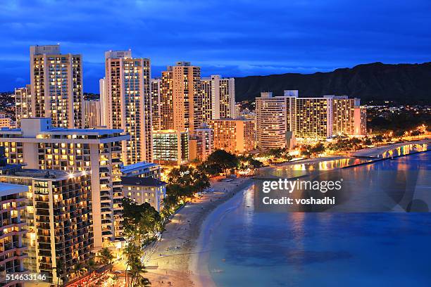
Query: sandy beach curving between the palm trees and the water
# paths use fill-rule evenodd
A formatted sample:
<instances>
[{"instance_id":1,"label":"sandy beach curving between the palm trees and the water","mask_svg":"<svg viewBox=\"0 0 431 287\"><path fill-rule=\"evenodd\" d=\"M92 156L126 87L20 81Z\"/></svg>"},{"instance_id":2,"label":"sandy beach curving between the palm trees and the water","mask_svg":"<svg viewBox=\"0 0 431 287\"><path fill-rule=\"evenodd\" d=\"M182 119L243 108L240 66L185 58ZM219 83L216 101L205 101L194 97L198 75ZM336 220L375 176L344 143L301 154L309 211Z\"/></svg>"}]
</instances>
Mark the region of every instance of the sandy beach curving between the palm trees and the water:
<instances>
[{"instance_id":1,"label":"sandy beach curving between the palm trees and the water","mask_svg":"<svg viewBox=\"0 0 431 287\"><path fill-rule=\"evenodd\" d=\"M230 182L214 181L211 184L213 193L194 200L175 214L166 224L161 241L146 248L148 272L145 276L150 279L151 286L202 286L196 266L192 268L190 262L193 262L192 257L199 257L195 253L201 250L196 245L203 222L221 203L250 185L251 179L243 177Z\"/></svg>"}]
</instances>

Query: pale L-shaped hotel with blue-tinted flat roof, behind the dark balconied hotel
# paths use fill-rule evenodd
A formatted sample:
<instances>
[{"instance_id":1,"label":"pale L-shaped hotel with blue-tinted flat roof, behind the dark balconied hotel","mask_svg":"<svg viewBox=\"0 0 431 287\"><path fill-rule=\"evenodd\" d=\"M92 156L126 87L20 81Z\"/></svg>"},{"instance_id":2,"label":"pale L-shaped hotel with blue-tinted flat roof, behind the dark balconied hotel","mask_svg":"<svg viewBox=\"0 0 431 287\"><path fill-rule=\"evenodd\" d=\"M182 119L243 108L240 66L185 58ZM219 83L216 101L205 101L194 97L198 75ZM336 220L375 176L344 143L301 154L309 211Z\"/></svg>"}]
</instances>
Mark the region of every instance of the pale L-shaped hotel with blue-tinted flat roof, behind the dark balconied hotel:
<instances>
[{"instance_id":1,"label":"pale L-shaped hotel with blue-tinted flat roof, behind the dark balconied hotel","mask_svg":"<svg viewBox=\"0 0 431 287\"><path fill-rule=\"evenodd\" d=\"M0 146L10 164L37 170L92 174L94 248L123 241L121 129L54 128L50 118L21 121L20 129L1 129Z\"/></svg>"}]
</instances>

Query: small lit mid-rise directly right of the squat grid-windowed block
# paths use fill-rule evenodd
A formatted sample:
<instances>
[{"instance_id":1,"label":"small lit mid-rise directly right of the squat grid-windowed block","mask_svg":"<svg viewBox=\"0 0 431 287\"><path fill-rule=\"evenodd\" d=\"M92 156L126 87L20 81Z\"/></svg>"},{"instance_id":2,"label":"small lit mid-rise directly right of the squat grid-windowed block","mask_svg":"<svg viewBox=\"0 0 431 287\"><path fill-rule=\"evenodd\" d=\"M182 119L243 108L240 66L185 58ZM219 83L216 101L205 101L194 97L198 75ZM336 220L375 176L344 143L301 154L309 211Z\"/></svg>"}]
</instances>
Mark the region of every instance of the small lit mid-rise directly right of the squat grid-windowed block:
<instances>
[{"instance_id":1,"label":"small lit mid-rise directly right of the squat grid-windowed block","mask_svg":"<svg viewBox=\"0 0 431 287\"><path fill-rule=\"evenodd\" d=\"M189 160L204 161L214 151L213 129L202 124L189 139Z\"/></svg>"}]
</instances>

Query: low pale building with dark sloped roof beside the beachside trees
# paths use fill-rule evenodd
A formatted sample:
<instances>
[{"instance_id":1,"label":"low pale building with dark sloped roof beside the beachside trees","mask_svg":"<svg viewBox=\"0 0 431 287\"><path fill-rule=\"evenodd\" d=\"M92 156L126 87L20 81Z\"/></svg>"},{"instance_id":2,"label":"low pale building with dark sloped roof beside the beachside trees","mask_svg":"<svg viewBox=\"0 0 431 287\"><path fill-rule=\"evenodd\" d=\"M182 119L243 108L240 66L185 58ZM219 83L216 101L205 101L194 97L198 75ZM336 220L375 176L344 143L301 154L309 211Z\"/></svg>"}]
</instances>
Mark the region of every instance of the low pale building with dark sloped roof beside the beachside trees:
<instances>
[{"instance_id":1,"label":"low pale building with dark sloped roof beside the beachside trees","mask_svg":"<svg viewBox=\"0 0 431 287\"><path fill-rule=\"evenodd\" d=\"M121 177L123 196L135 203L149 203L157 212L163 209L166 183L153 177Z\"/></svg>"}]
</instances>

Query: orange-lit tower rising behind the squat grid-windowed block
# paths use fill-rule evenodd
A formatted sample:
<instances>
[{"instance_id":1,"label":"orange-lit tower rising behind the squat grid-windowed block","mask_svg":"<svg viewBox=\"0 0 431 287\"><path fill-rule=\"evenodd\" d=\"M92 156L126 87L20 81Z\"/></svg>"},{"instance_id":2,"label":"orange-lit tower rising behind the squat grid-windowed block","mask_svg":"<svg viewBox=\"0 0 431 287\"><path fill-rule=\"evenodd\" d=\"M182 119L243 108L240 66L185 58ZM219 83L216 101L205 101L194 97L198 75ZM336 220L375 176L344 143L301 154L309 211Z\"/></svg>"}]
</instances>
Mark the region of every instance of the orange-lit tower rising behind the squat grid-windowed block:
<instances>
[{"instance_id":1,"label":"orange-lit tower rising behind the squat grid-windowed block","mask_svg":"<svg viewBox=\"0 0 431 287\"><path fill-rule=\"evenodd\" d=\"M162 128L193 134L203 122L201 68L178 62L162 72Z\"/></svg>"}]
</instances>

